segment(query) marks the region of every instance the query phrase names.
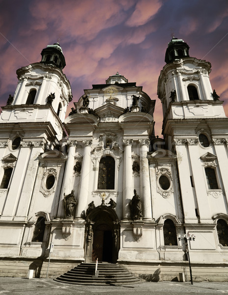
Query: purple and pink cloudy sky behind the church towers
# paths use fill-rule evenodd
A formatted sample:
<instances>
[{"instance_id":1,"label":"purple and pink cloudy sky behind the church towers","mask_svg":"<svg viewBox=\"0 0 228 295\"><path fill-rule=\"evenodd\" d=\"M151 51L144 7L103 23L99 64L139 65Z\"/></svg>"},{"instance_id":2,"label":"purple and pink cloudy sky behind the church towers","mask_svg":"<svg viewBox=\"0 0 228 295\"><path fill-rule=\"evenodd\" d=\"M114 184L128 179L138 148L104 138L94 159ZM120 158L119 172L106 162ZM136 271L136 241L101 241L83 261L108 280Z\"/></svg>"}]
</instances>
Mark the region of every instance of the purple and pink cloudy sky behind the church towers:
<instances>
[{"instance_id":1,"label":"purple and pink cloudy sky behind the church towers","mask_svg":"<svg viewBox=\"0 0 228 295\"><path fill-rule=\"evenodd\" d=\"M228 0L0 0L0 106L17 86L16 70L41 60L59 42L73 102L118 71L156 99L157 81L172 35L191 57L212 64L210 81L228 115Z\"/></svg>"}]
</instances>

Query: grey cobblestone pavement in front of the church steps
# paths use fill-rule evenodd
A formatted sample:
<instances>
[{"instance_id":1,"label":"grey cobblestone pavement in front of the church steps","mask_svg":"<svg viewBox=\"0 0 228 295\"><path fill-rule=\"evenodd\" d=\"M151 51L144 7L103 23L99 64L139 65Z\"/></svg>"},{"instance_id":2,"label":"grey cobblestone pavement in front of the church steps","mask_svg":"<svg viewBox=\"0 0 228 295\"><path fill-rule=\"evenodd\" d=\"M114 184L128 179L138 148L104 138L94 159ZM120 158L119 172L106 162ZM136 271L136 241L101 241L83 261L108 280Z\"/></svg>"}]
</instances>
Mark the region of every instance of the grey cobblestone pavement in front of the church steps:
<instances>
[{"instance_id":1,"label":"grey cobblestone pavement in front of the church steps","mask_svg":"<svg viewBox=\"0 0 228 295\"><path fill-rule=\"evenodd\" d=\"M126 286L84 286L53 279L0 277L0 295L219 295L228 294L228 283L145 282Z\"/></svg>"}]
</instances>

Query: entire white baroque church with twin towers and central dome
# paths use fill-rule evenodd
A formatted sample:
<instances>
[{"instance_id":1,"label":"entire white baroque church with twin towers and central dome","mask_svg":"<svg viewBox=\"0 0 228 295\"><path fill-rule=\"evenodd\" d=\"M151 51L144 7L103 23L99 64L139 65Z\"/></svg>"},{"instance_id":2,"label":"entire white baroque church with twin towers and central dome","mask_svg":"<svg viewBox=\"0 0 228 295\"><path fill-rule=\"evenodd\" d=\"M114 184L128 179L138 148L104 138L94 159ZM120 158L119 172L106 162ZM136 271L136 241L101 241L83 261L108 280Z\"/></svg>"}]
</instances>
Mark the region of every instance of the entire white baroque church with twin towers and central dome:
<instances>
[{"instance_id":1,"label":"entire white baroque church with twin towers and central dome","mask_svg":"<svg viewBox=\"0 0 228 295\"><path fill-rule=\"evenodd\" d=\"M228 118L211 64L172 38L155 100L118 72L72 108L58 43L17 70L0 115L0 275L118 263L147 280L228 275ZM187 247L182 237L191 237Z\"/></svg>"}]
</instances>

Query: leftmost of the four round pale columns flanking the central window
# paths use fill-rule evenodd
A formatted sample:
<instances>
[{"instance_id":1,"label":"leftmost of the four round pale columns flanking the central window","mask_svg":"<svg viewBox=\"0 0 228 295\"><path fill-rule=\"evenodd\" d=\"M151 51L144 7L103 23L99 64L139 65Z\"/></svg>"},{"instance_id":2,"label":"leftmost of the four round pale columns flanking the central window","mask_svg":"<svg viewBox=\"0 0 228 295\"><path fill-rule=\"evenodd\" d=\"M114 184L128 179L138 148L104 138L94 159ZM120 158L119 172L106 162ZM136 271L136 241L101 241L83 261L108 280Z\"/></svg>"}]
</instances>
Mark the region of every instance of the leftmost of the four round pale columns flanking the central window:
<instances>
[{"instance_id":1,"label":"leftmost of the four round pale columns flanking the central window","mask_svg":"<svg viewBox=\"0 0 228 295\"><path fill-rule=\"evenodd\" d=\"M74 157L75 157L75 148L77 145L77 141L68 141L68 154L66 160L66 166L62 181L62 189L60 193L59 203L64 199L64 193L68 195L71 190L73 189L73 171L74 171ZM65 217L64 213L64 206L58 207L57 217L63 216Z\"/></svg>"}]
</instances>

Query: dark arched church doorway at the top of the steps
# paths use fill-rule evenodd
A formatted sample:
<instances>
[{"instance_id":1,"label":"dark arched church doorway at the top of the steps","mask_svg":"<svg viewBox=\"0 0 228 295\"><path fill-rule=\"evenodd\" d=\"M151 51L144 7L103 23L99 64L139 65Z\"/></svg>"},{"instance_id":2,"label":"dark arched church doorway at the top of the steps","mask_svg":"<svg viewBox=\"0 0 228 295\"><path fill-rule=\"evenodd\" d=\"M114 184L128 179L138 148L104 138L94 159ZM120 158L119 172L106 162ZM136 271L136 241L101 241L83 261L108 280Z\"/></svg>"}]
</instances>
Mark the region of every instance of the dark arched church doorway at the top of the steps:
<instances>
[{"instance_id":1,"label":"dark arched church doorway at the top of the steps","mask_svg":"<svg viewBox=\"0 0 228 295\"><path fill-rule=\"evenodd\" d=\"M114 209L99 206L89 212L85 228L85 262L116 263L119 223Z\"/></svg>"}]
</instances>

